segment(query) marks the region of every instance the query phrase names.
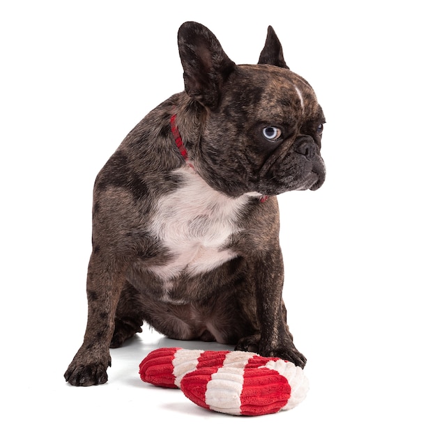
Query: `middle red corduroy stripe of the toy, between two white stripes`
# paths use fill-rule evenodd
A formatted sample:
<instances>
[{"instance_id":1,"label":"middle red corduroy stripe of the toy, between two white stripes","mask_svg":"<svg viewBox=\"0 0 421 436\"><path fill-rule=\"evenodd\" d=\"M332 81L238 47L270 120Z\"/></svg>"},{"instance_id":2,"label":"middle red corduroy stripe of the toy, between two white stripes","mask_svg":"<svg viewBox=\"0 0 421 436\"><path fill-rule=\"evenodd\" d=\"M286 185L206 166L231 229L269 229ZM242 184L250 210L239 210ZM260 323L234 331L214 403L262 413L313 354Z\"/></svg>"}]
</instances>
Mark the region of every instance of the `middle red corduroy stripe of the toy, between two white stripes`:
<instances>
[{"instance_id":1,"label":"middle red corduroy stripe of the toy, between two white stripes","mask_svg":"<svg viewBox=\"0 0 421 436\"><path fill-rule=\"evenodd\" d=\"M193 403L209 409L206 404L206 386L212 375L224 365L229 351L204 351L201 353L196 371L188 373L181 380L181 390Z\"/></svg>"}]
</instances>

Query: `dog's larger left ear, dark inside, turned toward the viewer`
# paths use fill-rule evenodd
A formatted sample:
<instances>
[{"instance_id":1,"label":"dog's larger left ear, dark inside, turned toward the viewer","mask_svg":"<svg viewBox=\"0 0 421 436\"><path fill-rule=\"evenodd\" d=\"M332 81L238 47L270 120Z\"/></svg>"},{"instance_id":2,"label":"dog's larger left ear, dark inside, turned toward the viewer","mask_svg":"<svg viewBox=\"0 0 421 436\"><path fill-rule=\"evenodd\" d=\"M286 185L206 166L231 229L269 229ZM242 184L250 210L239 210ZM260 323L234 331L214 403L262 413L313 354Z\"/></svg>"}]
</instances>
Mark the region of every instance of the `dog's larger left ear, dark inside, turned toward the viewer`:
<instances>
[{"instance_id":1,"label":"dog's larger left ear, dark inside, turned toward the viewer","mask_svg":"<svg viewBox=\"0 0 421 436\"><path fill-rule=\"evenodd\" d=\"M215 109L222 85L236 64L225 54L215 35L195 22L185 22L178 30L178 51L185 92L205 107Z\"/></svg>"}]
</instances>

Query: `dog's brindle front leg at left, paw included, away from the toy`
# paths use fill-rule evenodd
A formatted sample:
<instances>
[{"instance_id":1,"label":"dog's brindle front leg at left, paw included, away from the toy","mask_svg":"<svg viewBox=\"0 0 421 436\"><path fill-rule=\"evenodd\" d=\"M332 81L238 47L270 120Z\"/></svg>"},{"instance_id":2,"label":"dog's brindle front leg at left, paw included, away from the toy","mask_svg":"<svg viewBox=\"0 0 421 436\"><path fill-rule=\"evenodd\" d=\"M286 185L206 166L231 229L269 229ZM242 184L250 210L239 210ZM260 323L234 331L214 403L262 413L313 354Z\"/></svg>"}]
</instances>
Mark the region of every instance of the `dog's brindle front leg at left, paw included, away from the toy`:
<instances>
[{"instance_id":1,"label":"dog's brindle front leg at left, paw included, away from the toy","mask_svg":"<svg viewBox=\"0 0 421 436\"><path fill-rule=\"evenodd\" d=\"M107 382L107 367L111 366L109 344L124 283L122 260L105 260L99 254L91 255L86 281L88 322L84 342L64 374L70 384L91 386Z\"/></svg>"}]
</instances>

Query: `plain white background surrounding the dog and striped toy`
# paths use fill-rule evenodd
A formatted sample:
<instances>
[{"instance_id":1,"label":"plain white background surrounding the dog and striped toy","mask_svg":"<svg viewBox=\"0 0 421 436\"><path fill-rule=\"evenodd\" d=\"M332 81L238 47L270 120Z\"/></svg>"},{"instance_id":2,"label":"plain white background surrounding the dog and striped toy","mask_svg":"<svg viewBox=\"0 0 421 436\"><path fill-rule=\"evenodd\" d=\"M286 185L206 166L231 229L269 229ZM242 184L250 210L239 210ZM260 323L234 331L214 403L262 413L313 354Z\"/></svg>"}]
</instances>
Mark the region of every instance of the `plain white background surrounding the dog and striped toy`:
<instances>
[{"instance_id":1,"label":"plain white background surrounding the dog and striped toy","mask_svg":"<svg viewBox=\"0 0 421 436\"><path fill-rule=\"evenodd\" d=\"M2 434L420 435L415 6L1 2ZM279 198L284 298L310 382L289 412L217 414L143 384L141 359L174 344L148 331L112 351L107 384L63 379L86 322L93 180L125 134L183 89L176 33L187 20L237 63L257 62L271 24L328 120L326 184Z\"/></svg>"}]
</instances>

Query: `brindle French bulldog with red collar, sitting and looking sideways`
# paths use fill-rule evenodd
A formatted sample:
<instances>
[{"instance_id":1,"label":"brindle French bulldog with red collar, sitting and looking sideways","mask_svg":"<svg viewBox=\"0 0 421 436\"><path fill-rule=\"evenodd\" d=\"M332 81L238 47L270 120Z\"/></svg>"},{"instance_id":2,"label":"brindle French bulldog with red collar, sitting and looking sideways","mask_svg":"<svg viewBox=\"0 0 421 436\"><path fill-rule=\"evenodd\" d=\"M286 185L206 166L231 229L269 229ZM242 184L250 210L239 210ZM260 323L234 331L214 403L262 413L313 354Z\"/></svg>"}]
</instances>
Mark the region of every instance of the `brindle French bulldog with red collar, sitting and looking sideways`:
<instances>
[{"instance_id":1,"label":"brindle French bulldog with red collar, sitting and looking sideways","mask_svg":"<svg viewBox=\"0 0 421 436\"><path fill-rule=\"evenodd\" d=\"M95 180L72 385L107 382L109 348L143 322L306 363L286 323L276 196L323 184L323 111L271 26L257 65L236 65L195 22L178 47L185 91L147 114Z\"/></svg>"}]
</instances>

